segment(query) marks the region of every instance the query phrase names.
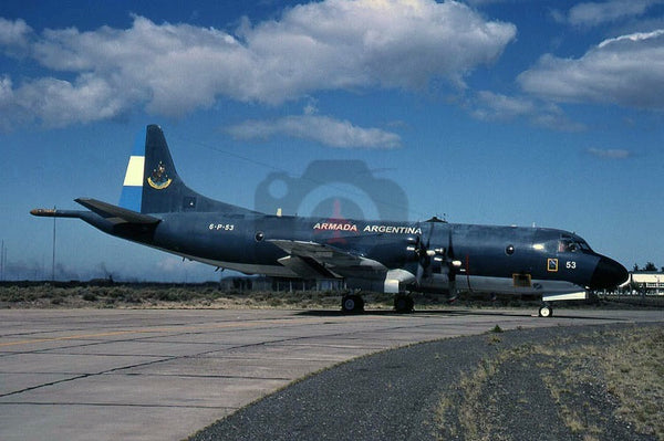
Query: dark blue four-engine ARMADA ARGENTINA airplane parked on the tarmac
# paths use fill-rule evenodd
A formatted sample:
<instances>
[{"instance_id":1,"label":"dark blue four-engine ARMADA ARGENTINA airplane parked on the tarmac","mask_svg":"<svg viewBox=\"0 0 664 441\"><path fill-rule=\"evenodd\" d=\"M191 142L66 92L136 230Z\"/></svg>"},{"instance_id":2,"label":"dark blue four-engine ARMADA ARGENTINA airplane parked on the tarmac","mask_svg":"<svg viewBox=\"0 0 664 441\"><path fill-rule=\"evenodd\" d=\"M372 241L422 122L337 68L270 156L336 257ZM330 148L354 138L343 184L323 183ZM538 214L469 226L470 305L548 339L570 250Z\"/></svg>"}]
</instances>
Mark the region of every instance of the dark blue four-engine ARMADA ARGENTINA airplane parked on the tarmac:
<instances>
[{"instance_id":1,"label":"dark blue four-engine ARMADA ARGENTINA airplane parked on the tarmac","mask_svg":"<svg viewBox=\"0 0 664 441\"><path fill-rule=\"evenodd\" d=\"M364 311L361 290L394 294L412 312L414 292L459 292L585 300L627 279L614 260L575 233L523 227L305 218L267 214L207 198L176 171L162 128L148 125L129 156L120 204L75 199L87 210L34 209L217 269L307 280L342 279L344 313Z\"/></svg>"}]
</instances>

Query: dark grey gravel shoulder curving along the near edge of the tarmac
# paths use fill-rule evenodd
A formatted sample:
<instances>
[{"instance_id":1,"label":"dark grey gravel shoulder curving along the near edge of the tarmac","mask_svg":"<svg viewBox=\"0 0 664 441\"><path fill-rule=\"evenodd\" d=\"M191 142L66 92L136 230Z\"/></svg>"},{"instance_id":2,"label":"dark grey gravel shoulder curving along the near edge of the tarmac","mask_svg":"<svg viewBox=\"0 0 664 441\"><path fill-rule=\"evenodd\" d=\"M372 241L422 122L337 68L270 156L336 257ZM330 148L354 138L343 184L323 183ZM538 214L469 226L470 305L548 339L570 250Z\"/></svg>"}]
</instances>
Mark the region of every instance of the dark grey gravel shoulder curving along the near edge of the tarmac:
<instances>
[{"instance_id":1,"label":"dark grey gravel shoulder curving along the near edge of the tarmac","mask_svg":"<svg viewBox=\"0 0 664 441\"><path fill-rule=\"evenodd\" d=\"M582 366L587 375L570 386L574 358L553 354L609 344L614 337L603 330L624 327L518 329L374 354L300 380L190 440L656 440L613 416L618 403L596 366Z\"/></svg>"}]
</instances>

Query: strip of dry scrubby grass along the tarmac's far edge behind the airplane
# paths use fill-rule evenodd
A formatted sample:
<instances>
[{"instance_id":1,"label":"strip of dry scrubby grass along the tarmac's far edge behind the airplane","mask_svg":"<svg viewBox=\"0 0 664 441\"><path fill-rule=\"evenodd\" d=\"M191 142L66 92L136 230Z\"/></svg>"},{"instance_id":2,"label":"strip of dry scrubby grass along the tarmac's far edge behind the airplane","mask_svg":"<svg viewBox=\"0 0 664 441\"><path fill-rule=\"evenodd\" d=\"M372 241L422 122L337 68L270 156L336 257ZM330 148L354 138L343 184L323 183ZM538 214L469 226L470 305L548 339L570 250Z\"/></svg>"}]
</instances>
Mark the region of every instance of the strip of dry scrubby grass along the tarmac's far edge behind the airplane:
<instances>
[{"instance_id":1,"label":"strip of dry scrubby grass along the tarmac's far edge behind the airplane","mask_svg":"<svg viewBox=\"0 0 664 441\"><path fill-rule=\"evenodd\" d=\"M339 309L338 291L241 291L207 284L85 284L1 283L0 308L301 308ZM393 294L362 292L367 309L393 309ZM537 307L538 303L515 298L487 302L463 295L449 305L445 295L416 294L416 307L455 309L481 307Z\"/></svg>"}]
</instances>

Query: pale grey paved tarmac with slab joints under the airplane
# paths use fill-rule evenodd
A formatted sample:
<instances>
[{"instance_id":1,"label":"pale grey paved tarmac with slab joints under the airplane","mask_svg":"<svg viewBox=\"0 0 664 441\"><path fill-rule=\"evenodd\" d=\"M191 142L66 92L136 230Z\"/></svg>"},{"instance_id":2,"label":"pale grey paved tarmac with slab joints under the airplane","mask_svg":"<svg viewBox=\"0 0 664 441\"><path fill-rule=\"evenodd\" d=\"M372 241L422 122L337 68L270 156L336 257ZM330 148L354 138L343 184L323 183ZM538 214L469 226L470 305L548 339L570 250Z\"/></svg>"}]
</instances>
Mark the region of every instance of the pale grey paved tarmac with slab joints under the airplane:
<instances>
[{"instance_id":1,"label":"pale grey paved tarmac with slab joints under the airplane","mask_svg":"<svg viewBox=\"0 0 664 441\"><path fill-rule=\"evenodd\" d=\"M413 343L664 311L409 315L220 309L0 311L0 439L179 440L293 380Z\"/></svg>"}]
</instances>

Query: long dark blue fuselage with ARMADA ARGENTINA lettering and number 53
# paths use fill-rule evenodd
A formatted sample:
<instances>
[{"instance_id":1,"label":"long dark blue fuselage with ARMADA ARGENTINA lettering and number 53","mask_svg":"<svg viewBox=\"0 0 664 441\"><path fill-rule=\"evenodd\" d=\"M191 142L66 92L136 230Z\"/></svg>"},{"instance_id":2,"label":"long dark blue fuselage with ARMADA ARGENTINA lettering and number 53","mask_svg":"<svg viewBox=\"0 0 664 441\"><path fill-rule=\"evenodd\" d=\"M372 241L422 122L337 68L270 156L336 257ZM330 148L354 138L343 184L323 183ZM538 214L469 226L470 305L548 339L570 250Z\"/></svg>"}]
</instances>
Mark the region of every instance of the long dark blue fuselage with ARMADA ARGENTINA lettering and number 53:
<instances>
[{"instance_id":1,"label":"long dark blue fuselage with ARMADA ARGENTINA lettering and number 53","mask_svg":"<svg viewBox=\"0 0 664 441\"><path fill-rule=\"evenodd\" d=\"M458 264L458 290L541 294L603 288L614 283L610 275L595 274L600 261L609 259L593 252L580 237L563 230L252 213L165 213L157 217L162 221L154 230L114 225L93 213L84 220L110 234L247 274L300 276L279 263L288 253L272 240L288 237L293 241L329 244L381 262L385 269L329 267L334 274L374 290L382 290L390 267L416 274L419 259L408 245L418 237L427 239L430 250L445 250L453 243ZM430 256L434 260L432 270L419 283L406 283L408 290L448 290L448 271L442 264L443 260L436 264L436 258L435 254Z\"/></svg>"}]
</instances>

